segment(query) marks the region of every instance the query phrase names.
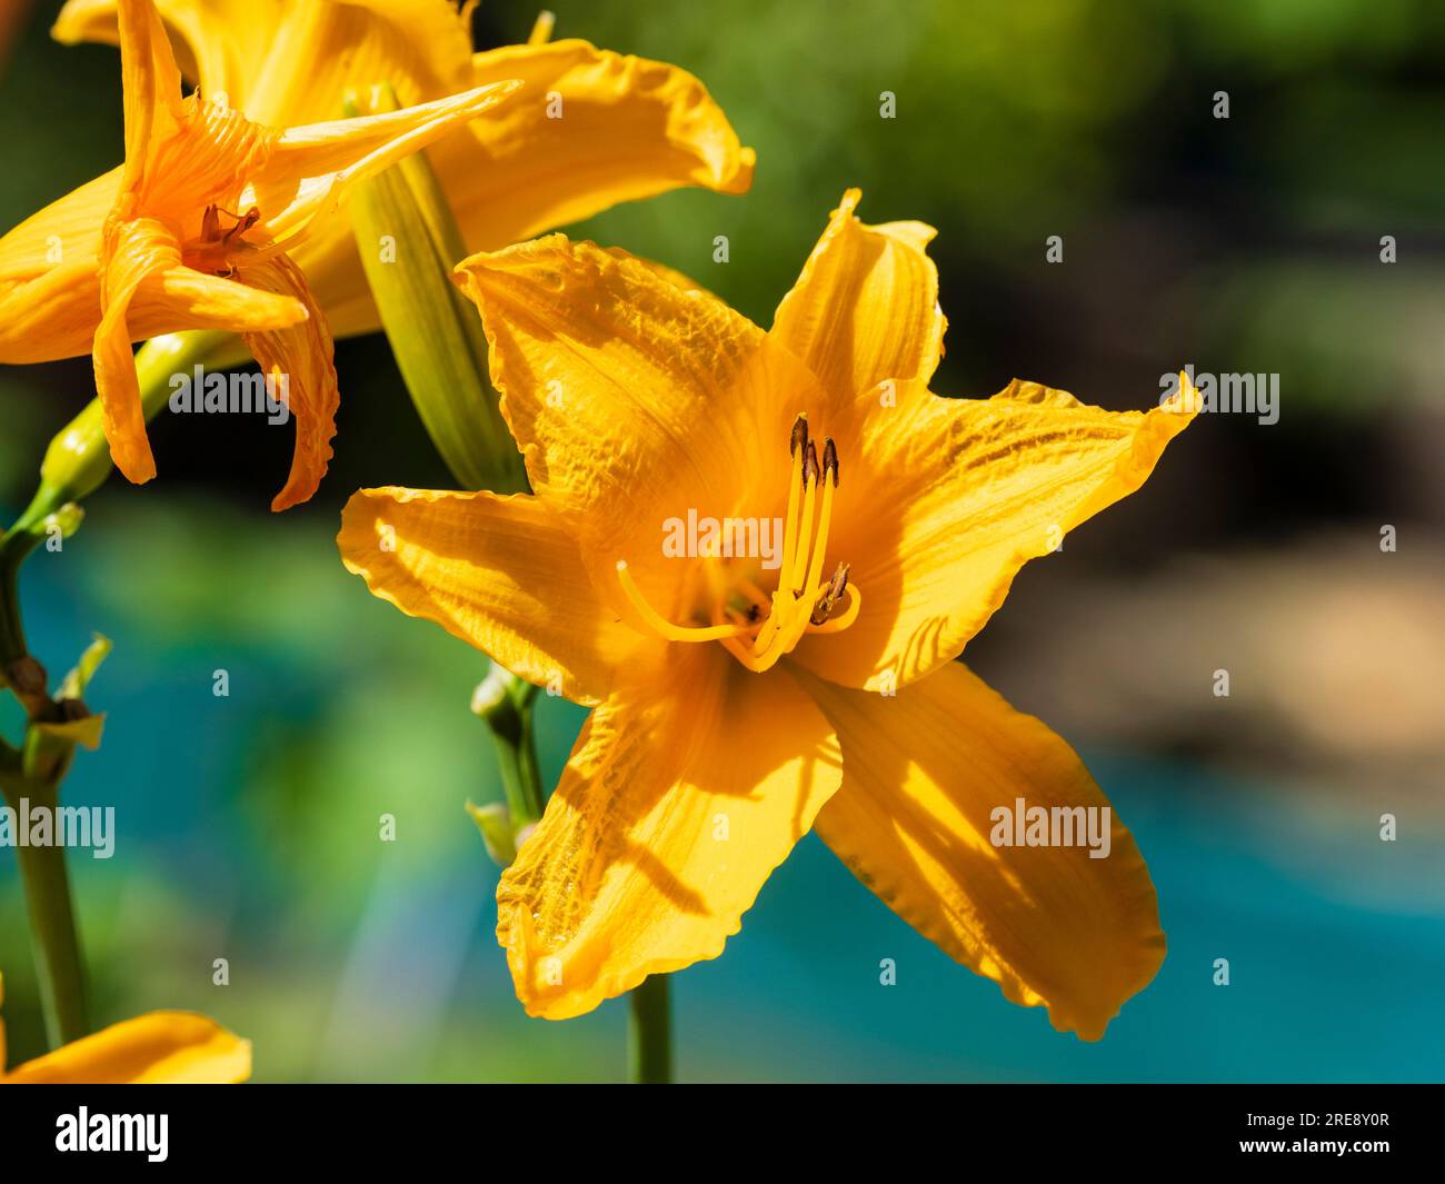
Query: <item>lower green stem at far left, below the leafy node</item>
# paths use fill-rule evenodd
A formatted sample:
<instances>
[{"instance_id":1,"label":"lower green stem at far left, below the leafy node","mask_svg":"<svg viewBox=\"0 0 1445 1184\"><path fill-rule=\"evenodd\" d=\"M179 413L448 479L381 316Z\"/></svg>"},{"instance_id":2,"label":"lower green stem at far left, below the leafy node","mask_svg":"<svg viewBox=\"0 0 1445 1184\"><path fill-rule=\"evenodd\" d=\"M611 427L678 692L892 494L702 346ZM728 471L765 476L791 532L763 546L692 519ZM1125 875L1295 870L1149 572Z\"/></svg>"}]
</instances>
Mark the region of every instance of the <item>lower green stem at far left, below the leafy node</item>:
<instances>
[{"instance_id":1,"label":"lower green stem at far left, below the leafy node","mask_svg":"<svg viewBox=\"0 0 1445 1184\"><path fill-rule=\"evenodd\" d=\"M14 789L22 789L16 794ZM45 807L55 817L59 801L56 785L45 782L7 782L7 798L14 810L20 797L30 810ZM52 836L53 837L53 836ZM75 909L71 905L71 879L65 867L65 847L49 843L40 847L16 847L20 882L30 912L30 943L35 948L45 1034L52 1048L79 1039L90 1031L85 1022L85 971L81 961Z\"/></svg>"}]
</instances>

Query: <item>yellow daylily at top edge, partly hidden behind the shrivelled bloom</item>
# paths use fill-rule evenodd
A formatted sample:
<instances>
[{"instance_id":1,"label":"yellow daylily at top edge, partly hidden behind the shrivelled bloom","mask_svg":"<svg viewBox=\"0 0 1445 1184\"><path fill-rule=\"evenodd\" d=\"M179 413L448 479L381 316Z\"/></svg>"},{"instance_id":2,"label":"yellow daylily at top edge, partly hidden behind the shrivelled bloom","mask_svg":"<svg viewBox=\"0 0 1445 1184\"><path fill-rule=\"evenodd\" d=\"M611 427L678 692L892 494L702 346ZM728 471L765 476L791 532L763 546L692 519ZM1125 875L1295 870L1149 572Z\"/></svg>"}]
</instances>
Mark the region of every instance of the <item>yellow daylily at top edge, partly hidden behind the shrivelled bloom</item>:
<instances>
[{"instance_id":1,"label":"yellow daylily at top edge, partly hidden behind the shrivelled bloom","mask_svg":"<svg viewBox=\"0 0 1445 1184\"><path fill-rule=\"evenodd\" d=\"M68 0L53 35L116 40L117 0ZM501 80L520 94L441 140L431 159L467 250L494 250L621 201L682 185L746 192L754 153L707 88L663 62L585 40L473 52L452 0L158 0L185 77L273 126L335 116L348 90L389 82L403 107ZM380 327L345 226L293 257L332 333Z\"/></svg>"}]
</instances>

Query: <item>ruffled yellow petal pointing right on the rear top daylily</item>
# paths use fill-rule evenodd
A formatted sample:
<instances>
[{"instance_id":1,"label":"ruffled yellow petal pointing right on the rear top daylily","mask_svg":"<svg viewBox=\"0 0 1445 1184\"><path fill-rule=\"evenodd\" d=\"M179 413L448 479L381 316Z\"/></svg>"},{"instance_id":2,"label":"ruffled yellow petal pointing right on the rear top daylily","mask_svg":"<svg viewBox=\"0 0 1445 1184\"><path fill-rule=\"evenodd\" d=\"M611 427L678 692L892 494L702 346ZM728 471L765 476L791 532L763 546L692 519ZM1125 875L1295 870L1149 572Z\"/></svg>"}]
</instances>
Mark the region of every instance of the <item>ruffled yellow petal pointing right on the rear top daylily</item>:
<instances>
[{"instance_id":1,"label":"ruffled yellow petal pointing right on the rear top daylily","mask_svg":"<svg viewBox=\"0 0 1445 1184\"><path fill-rule=\"evenodd\" d=\"M682 185L743 194L753 182L753 150L683 69L572 39L475 55L474 85L501 78L525 90L432 155L471 250Z\"/></svg>"}]
</instances>

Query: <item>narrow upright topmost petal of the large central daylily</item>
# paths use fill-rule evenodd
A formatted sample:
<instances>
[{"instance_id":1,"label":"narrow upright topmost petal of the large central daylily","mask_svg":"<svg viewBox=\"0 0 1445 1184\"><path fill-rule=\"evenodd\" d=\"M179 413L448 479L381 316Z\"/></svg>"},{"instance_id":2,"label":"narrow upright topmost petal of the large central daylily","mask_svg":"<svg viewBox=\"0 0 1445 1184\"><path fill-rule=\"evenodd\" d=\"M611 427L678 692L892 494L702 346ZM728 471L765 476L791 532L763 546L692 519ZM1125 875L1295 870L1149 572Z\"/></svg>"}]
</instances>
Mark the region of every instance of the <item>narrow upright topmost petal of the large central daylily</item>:
<instances>
[{"instance_id":1,"label":"narrow upright topmost petal of the large central daylily","mask_svg":"<svg viewBox=\"0 0 1445 1184\"><path fill-rule=\"evenodd\" d=\"M847 408L884 379L928 382L944 354L935 230L923 223L866 226L848 189L783 298L770 334Z\"/></svg>"}]
</instances>

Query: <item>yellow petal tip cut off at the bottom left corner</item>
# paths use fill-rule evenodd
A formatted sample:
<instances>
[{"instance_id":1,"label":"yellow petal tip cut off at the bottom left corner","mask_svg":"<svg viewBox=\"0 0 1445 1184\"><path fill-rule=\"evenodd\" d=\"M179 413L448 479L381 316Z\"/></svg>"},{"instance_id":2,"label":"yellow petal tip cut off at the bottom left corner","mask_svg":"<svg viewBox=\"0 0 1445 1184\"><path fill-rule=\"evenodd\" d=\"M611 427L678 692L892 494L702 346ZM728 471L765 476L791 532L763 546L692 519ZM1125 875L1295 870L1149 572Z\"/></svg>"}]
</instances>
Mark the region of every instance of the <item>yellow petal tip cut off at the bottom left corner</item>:
<instances>
[{"instance_id":1,"label":"yellow petal tip cut off at the bottom left corner","mask_svg":"<svg viewBox=\"0 0 1445 1184\"><path fill-rule=\"evenodd\" d=\"M150 1012L26 1061L10 1084L228 1084L251 1076L251 1045L191 1012Z\"/></svg>"}]
</instances>

